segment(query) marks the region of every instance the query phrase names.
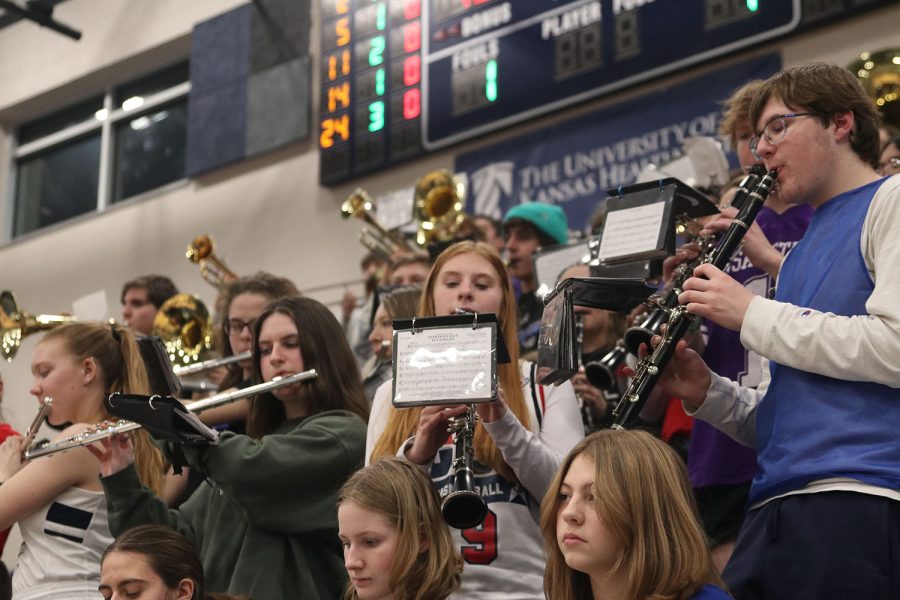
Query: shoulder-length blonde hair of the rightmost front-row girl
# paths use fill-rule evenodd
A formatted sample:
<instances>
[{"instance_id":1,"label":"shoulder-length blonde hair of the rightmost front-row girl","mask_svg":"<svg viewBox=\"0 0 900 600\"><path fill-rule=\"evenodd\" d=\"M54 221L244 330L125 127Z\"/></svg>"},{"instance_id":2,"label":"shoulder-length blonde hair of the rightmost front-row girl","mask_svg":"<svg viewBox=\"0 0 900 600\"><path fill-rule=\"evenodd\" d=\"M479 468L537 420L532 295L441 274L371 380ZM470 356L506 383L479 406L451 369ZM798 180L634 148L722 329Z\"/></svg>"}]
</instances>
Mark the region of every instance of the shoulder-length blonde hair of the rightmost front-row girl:
<instances>
[{"instance_id":1,"label":"shoulder-length blonde hair of the rightmost front-row girl","mask_svg":"<svg viewBox=\"0 0 900 600\"><path fill-rule=\"evenodd\" d=\"M606 429L572 448L541 505L548 598L593 597L588 575L566 564L556 532L562 481L581 454L594 463L597 514L623 548L612 571L625 575L624 598L686 600L707 583L721 585L681 459L645 431Z\"/></svg>"}]
</instances>

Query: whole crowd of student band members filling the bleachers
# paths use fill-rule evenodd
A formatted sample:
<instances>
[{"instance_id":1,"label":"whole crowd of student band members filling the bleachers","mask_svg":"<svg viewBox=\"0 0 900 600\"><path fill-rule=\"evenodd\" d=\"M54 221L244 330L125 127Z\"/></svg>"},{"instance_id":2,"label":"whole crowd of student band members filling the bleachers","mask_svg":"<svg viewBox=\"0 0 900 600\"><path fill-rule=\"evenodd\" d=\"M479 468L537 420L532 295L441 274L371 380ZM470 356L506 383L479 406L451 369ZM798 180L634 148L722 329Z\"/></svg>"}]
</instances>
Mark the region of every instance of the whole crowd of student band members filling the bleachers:
<instances>
[{"instance_id":1,"label":"whole crowd of student band members filling the bleachers","mask_svg":"<svg viewBox=\"0 0 900 600\"><path fill-rule=\"evenodd\" d=\"M603 428L615 394L583 373L537 381L531 257L565 242L568 225L556 207L523 205L505 219L508 264L473 240L405 257L400 287L373 286L363 329L353 302L342 323L286 279L230 282L223 354L251 358L223 387L316 376L205 414L222 431L184 448L191 483L167 474L171 443L142 430L29 462L9 435L0 529L18 523L23 537L13 597L895 597L900 178L896 140L879 143L878 127L832 65L787 69L727 101L723 134L743 166L776 171L778 189L732 266L697 267L679 297L705 336L679 342L658 388L695 418L687 465L653 433ZM705 231L733 217L724 209ZM70 323L34 351L31 391L53 399L60 439L108 419L107 394L149 392L132 329L149 333L138 325L161 303L158 282L130 283L131 329ZM468 408L394 407L384 343L392 319L460 311L496 314L511 359L498 399L476 406L487 516L462 530L440 504L457 458L448 426ZM581 312L596 360L624 317Z\"/></svg>"}]
</instances>

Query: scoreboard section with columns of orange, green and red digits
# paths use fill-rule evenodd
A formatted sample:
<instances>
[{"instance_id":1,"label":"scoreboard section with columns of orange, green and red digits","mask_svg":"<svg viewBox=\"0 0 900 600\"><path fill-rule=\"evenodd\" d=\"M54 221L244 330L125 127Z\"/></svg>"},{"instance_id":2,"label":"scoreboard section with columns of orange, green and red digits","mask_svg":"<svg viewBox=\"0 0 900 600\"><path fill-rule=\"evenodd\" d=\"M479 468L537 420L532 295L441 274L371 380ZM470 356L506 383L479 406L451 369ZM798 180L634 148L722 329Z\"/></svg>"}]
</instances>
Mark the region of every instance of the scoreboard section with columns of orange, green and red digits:
<instances>
[{"instance_id":1,"label":"scoreboard section with columns of orange, green and red digits","mask_svg":"<svg viewBox=\"0 0 900 600\"><path fill-rule=\"evenodd\" d=\"M422 151L422 4L323 0L322 183Z\"/></svg>"}]
</instances>

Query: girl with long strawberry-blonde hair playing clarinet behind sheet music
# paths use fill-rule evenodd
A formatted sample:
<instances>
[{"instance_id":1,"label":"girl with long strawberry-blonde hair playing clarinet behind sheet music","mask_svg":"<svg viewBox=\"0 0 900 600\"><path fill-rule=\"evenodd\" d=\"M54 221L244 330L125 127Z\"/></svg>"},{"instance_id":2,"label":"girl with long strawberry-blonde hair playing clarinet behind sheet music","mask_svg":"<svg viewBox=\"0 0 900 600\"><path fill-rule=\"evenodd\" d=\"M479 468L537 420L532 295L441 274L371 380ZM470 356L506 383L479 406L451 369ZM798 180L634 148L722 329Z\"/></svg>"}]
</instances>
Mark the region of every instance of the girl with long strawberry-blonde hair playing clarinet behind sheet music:
<instances>
[{"instance_id":1,"label":"girl with long strawberry-blonde hair playing clarinet behind sheet music","mask_svg":"<svg viewBox=\"0 0 900 600\"><path fill-rule=\"evenodd\" d=\"M488 513L478 527L453 530L466 562L460 591L454 596L542 600L540 499L562 456L584 436L578 404L570 383L539 385L534 364L519 360L515 297L506 267L492 246L459 242L444 250L432 266L418 316L459 311L496 314L511 361L497 366L499 399L476 405L473 470L476 491ZM455 474L455 447L447 426L466 412L466 406L396 410L390 395L390 381L375 394L367 458L404 456L427 469L438 492L447 495Z\"/></svg>"}]
</instances>

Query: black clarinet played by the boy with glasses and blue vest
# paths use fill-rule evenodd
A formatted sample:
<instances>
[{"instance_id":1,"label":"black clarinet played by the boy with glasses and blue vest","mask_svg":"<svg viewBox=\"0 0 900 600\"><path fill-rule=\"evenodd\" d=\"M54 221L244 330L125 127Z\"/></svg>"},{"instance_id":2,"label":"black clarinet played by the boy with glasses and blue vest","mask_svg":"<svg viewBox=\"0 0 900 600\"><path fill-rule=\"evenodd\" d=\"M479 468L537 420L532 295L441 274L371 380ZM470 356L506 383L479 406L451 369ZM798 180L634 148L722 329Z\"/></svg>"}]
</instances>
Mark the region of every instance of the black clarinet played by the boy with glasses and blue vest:
<instances>
[{"instance_id":1,"label":"black clarinet played by the boy with glasses and blue vest","mask_svg":"<svg viewBox=\"0 0 900 600\"><path fill-rule=\"evenodd\" d=\"M703 258L701 264L709 263L718 269L725 268L740 248L744 235L765 203L777 176L776 171L766 173L756 189L747 197L718 246ZM625 429L637 418L666 365L675 355L675 347L679 340L691 329L696 320L697 316L687 312L683 305L672 310L665 335L652 353L642 358L637 364L628 389L613 410L615 419L612 425L613 429Z\"/></svg>"}]
</instances>

